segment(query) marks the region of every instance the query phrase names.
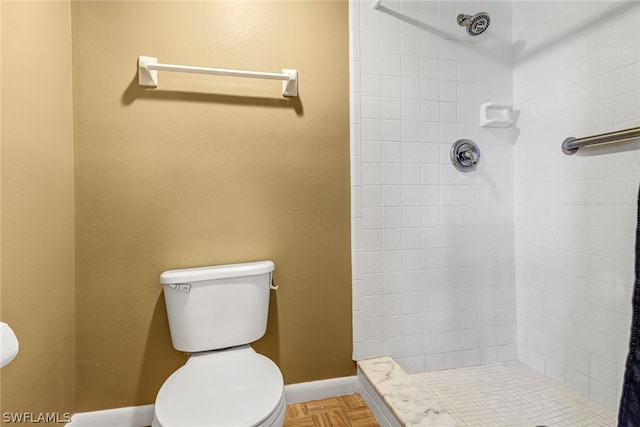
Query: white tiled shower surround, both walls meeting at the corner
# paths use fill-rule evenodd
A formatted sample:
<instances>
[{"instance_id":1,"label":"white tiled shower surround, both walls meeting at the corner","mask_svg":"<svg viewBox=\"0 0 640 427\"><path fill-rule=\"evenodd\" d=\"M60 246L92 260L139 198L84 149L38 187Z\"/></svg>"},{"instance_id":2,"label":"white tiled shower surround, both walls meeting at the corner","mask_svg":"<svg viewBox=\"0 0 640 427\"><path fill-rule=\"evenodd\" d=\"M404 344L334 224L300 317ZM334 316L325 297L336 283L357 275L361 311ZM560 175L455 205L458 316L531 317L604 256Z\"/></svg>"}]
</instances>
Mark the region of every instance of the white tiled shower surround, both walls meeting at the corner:
<instances>
[{"instance_id":1,"label":"white tiled shower surround, both walls meeting at the corner","mask_svg":"<svg viewBox=\"0 0 640 427\"><path fill-rule=\"evenodd\" d=\"M382 6L350 3L354 358L513 359L517 311L520 360L615 408L640 144L560 143L640 125L638 2ZM471 39L455 16L479 11ZM513 101L516 126L479 127L488 101ZM450 165L458 138L477 172Z\"/></svg>"}]
</instances>

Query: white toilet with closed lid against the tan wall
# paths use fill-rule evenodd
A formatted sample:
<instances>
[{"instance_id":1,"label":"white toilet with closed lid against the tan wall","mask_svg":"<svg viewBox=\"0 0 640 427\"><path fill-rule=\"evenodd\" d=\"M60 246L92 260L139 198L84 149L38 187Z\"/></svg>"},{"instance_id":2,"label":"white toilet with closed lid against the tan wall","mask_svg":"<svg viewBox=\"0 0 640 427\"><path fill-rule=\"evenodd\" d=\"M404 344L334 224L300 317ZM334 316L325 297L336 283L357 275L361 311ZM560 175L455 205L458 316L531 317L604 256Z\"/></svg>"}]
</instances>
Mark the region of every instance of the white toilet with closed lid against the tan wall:
<instances>
[{"instance_id":1,"label":"white toilet with closed lid against the tan wall","mask_svg":"<svg viewBox=\"0 0 640 427\"><path fill-rule=\"evenodd\" d=\"M156 397L153 427L281 427L282 373L250 343L267 330L274 264L258 261L160 275L176 350L190 353Z\"/></svg>"}]
</instances>

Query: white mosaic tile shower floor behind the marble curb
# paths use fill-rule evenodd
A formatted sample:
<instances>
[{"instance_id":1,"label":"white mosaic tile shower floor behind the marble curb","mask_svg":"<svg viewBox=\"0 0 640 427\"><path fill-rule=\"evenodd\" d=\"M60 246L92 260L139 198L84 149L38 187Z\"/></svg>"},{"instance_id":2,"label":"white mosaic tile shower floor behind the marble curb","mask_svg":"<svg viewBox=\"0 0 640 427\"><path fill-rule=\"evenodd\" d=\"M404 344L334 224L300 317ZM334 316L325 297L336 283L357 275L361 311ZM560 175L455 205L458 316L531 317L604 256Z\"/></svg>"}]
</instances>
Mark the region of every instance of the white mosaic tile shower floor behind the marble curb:
<instances>
[{"instance_id":1,"label":"white mosaic tile shower floor behind the marble curb","mask_svg":"<svg viewBox=\"0 0 640 427\"><path fill-rule=\"evenodd\" d=\"M617 416L518 362L410 375L458 426L611 426Z\"/></svg>"}]
</instances>

